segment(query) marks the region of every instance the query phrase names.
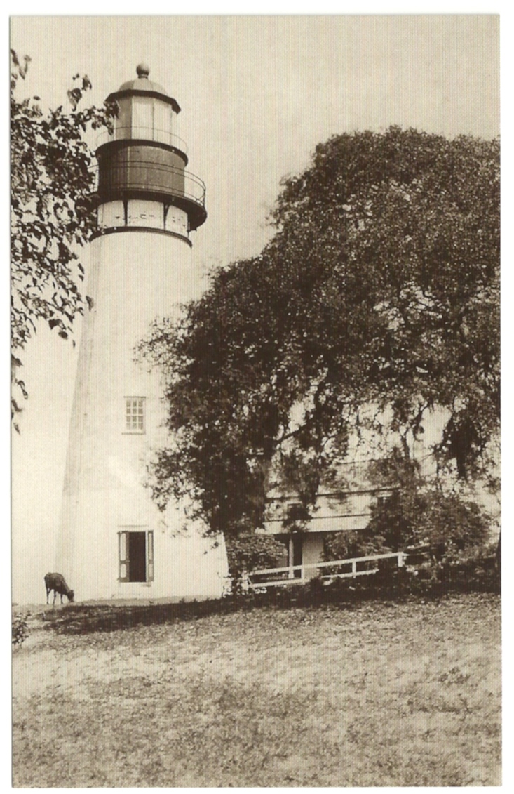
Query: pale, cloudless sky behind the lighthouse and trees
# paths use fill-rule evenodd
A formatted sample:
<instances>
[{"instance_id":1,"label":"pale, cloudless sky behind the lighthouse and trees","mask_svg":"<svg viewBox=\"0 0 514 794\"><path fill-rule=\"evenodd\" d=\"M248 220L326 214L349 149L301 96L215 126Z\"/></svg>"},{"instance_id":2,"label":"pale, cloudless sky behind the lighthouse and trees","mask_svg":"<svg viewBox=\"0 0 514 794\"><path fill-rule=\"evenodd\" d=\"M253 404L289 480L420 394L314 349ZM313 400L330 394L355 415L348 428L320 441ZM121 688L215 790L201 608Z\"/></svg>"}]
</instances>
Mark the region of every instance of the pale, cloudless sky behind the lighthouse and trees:
<instances>
[{"instance_id":1,"label":"pale, cloudless sky behind the lighthouse and trees","mask_svg":"<svg viewBox=\"0 0 514 794\"><path fill-rule=\"evenodd\" d=\"M498 18L435 16L12 17L32 61L20 97L66 103L77 72L104 98L150 67L182 108L176 133L205 181L199 273L259 253L280 181L337 133L389 125L499 134ZM79 326L75 341L79 341ZM42 327L23 357L29 400L12 443L13 591L52 568L78 346ZM38 582L39 585L39 582ZM32 587L32 585L31 585Z\"/></svg>"}]
</instances>

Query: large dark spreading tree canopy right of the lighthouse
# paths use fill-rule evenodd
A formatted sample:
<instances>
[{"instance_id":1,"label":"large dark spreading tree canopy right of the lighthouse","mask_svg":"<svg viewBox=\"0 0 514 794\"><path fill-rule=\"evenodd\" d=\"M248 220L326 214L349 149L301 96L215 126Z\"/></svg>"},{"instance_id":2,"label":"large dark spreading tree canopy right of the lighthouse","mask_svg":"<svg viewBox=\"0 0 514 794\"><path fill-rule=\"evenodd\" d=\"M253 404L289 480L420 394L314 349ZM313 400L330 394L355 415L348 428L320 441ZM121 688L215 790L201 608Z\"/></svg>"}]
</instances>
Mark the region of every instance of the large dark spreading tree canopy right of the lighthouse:
<instances>
[{"instance_id":1,"label":"large dark spreading tree canopy right of the lighthouse","mask_svg":"<svg viewBox=\"0 0 514 794\"><path fill-rule=\"evenodd\" d=\"M500 419L499 141L390 128L333 137L286 179L260 256L213 274L142 345L166 380L152 488L213 531L263 522L273 484L307 509L366 426L489 465Z\"/></svg>"}]
</instances>

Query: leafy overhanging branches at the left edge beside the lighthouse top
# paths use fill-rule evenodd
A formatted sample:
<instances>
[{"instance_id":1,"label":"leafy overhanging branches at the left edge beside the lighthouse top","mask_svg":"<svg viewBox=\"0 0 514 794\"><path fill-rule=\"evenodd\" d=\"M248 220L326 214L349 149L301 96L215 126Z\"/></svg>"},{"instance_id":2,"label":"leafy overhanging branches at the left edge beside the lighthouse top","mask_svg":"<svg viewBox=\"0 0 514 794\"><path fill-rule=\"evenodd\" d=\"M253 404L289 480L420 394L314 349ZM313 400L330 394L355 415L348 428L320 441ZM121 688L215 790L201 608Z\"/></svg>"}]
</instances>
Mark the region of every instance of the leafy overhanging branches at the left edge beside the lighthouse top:
<instances>
[{"instance_id":1,"label":"leafy overhanging branches at the left edge beside the lighthouse top","mask_svg":"<svg viewBox=\"0 0 514 794\"><path fill-rule=\"evenodd\" d=\"M75 315L82 312L79 284L84 270L78 249L94 229L85 199L94 188L94 154L84 140L88 129L109 128L113 106L79 110L90 79L75 75L67 92L71 110L48 113L40 98L17 98L30 58L11 50L11 334L13 380L26 397L19 376L19 351L37 323L46 322L67 338ZM13 413L20 408L13 395Z\"/></svg>"}]
</instances>

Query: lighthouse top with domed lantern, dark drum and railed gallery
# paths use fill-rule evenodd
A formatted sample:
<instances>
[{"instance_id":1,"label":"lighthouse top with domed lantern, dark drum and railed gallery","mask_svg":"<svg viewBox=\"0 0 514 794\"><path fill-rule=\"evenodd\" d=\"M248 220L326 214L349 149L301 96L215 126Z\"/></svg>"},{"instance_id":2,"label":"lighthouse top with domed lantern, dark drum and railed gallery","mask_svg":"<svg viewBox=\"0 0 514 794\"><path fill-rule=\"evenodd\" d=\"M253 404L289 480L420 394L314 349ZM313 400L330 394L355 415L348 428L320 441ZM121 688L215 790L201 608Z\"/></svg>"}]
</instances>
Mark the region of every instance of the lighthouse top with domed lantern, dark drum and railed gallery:
<instances>
[{"instance_id":1,"label":"lighthouse top with domed lantern, dark drum and railed gallery","mask_svg":"<svg viewBox=\"0 0 514 794\"><path fill-rule=\"evenodd\" d=\"M207 217L205 185L186 171L186 144L173 132L178 102L148 78L147 66L136 71L108 97L118 112L96 152L98 233L136 227L189 240Z\"/></svg>"}]
</instances>

